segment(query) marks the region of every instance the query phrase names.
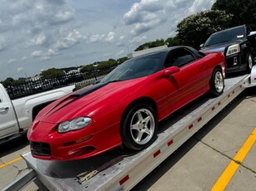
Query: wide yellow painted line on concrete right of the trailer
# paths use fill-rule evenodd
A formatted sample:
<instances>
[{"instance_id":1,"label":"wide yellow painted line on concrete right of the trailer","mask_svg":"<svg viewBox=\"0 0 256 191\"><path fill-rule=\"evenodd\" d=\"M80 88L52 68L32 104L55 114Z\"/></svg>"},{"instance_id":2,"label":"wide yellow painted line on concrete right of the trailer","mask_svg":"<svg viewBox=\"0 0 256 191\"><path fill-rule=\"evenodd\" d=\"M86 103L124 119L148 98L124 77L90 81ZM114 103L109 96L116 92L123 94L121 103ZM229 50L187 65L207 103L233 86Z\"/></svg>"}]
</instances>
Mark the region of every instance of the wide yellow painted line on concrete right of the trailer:
<instances>
[{"instance_id":1,"label":"wide yellow painted line on concrete right of the trailer","mask_svg":"<svg viewBox=\"0 0 256 191\"><path fill-rule=\"evenodd\" d=\"M234 156L233 160L228 164L228 167L224 170L223 174L219 177L216 184L214 184L212 191L224 190L228 185L230 179L232 179L233 174L238 169L239 164L243 162L246 154L253 146L256 141L256 128L253 130L253 133L248 137L248 140L245 141L241 149Z\"/></svg>"}]
</instances>

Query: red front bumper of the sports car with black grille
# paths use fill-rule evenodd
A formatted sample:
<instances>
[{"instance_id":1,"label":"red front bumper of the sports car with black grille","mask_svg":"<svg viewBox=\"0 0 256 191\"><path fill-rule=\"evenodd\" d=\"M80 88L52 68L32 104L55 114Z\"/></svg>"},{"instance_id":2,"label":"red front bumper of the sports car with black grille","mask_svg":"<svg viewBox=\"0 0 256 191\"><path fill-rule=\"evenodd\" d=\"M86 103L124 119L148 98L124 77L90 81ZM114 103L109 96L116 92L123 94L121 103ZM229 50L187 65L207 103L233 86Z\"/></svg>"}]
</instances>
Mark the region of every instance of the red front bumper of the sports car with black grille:
<instances>
[{"instance_id":1,"label":"red front bumper of the sports car with black grille","mask_svg":"<svg viewBox=\"0 0 256 191\"><path fill-rule=\"evenodd\" d=\"M92 157L121 144L118 125L94 134L93 127L59 134L56 124L38 121L34 128L28 130L31 153L34 158L48 160Z\"/></svg>"}]
</instances>

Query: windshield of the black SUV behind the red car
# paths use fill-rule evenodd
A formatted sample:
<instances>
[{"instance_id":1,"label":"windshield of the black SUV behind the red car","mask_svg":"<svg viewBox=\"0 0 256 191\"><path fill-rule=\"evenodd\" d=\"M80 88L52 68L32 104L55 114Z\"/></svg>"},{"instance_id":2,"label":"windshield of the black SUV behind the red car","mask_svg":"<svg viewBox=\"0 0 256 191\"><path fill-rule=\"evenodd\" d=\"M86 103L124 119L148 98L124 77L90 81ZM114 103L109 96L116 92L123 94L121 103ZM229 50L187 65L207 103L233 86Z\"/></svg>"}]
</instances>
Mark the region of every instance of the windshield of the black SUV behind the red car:
<instances>
[{"instance_id":1,"label":"windshield of the black SUV behind the red car","mask_svg":"<svg viewBox=\"0 0 256 191\"><path fill-rule=\"evenodd\" d=\"M228 31L218 32L211 35L207 42L204 43L203 47L209 47L215 44L220 44L223 42L232 42L239 39L243 40L244 30L243 27L233 28Z\"/></svg>"}]
</instances>

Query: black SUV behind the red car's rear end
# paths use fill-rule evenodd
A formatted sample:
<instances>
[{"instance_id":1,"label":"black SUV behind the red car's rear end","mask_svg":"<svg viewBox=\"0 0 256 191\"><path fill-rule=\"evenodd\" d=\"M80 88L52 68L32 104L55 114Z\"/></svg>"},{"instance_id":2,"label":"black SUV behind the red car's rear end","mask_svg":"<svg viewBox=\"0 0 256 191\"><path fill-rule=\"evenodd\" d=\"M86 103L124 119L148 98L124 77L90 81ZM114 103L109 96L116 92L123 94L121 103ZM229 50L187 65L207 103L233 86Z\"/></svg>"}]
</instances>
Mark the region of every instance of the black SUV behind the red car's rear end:
<instances>
[{"instance_id":1,"label":"black SUV behind the red car's rear end","mask_svg":"<svg viewBox=\"0 0 256 191\"><path fill-rule=\"evenodd\" d=\"M256 26L242 25L215 32L201 45L201 51L220 51L226 58L227 72L250 72L256 56Z\"/></svg>"}]
</instances>

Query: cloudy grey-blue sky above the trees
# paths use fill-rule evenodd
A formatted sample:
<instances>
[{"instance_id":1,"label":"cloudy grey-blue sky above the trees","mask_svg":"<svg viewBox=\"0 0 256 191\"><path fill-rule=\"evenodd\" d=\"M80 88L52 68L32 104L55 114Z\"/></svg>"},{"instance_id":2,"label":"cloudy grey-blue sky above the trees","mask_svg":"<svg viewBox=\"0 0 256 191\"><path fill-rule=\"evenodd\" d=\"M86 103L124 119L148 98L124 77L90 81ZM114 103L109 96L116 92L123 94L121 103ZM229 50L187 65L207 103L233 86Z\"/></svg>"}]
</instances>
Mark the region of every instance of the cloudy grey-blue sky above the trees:
<instances>
[{"instance_id":1,"label":"cloudy grey-blue sky above the trees","mask_svg":"<svg viewBox=\"0 0 256 191\"><path fill-rule=\"evenodd\" d=\"M0 81L127 56L216 0L0 0Z\"/></svg>"}]
</instances>

